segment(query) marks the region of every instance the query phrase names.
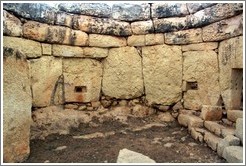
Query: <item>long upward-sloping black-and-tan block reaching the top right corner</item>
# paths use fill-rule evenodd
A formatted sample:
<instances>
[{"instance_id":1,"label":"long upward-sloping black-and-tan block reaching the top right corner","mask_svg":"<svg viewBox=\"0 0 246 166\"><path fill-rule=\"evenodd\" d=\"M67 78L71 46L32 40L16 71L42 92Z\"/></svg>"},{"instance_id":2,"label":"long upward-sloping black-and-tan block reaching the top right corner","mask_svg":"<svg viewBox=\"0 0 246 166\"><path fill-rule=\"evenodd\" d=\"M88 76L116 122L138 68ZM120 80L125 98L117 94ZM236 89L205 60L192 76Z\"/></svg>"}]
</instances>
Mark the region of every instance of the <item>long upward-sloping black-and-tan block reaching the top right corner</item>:
<instances>
[{"instance_id":1,"label":"long upward-sloping black-and-tan block reaching the top right corner","mask_svg":"<svg viewBox=\"0 0 246 166\"><path fill-rule=\"evenodd\" d=\"M187 16L190 28L202 27L242 13L242 3L218 3L217 5L200 10Z\"/></svg>"}]
</instances>

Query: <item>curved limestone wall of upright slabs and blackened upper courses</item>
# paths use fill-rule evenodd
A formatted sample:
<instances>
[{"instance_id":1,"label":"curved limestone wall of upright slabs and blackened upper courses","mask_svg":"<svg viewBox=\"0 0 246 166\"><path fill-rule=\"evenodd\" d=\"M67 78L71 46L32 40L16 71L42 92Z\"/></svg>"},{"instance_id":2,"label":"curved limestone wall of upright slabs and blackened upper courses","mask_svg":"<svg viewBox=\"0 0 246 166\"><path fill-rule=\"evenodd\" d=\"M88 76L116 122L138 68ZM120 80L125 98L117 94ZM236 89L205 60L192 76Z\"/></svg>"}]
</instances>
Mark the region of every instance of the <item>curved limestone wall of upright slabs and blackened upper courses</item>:
<instances>
[{"instance_id":1,"label":"curved limestone wall of upright slabs and blackened upper courses","mask_svg":"<svg viewBox=\"0 0 246 166\"><path fill-rule=\"evenodd\" d=\"M242 3L3 8L3 45L26 55L34 110L240 108Z\"/></svg>"}]
</instances>

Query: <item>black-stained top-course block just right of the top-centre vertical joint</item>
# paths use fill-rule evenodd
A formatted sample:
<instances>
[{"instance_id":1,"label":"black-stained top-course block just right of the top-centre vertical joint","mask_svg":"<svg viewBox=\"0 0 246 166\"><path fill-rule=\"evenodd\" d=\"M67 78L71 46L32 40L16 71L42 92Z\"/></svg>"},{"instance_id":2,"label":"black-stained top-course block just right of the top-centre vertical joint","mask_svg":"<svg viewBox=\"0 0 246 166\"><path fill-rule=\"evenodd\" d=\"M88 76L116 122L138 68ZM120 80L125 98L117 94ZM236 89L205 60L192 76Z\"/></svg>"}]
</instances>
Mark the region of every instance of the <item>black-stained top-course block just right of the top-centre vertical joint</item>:
<instances>
[{"instance_id":1,"label":"black-stained top-course block just right of the top-centre vertical joint","mask_svg":"<svg viewBox=\"0 0 246 166\"><path fill-rule=\"evenodd\" d=\"M166 18L189 14L185 3L154 3L151 8L153 18Z\"/></svg>"}]
</instances>

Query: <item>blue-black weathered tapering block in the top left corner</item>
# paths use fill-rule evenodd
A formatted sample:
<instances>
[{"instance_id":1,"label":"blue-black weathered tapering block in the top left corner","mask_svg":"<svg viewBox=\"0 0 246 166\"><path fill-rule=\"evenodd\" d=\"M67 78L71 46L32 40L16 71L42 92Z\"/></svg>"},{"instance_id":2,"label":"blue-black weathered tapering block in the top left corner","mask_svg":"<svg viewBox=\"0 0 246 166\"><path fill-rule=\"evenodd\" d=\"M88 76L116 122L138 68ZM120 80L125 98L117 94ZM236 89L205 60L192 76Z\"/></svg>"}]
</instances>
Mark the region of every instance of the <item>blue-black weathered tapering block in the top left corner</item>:
<instances>
[{"instance_id":1,"label":"blue-black weathered tapering block in the top left corner","mask_svg":"<svg viewBox=\"0 0 246 166\"><path fill-rule=\"evenodd\" d=\"M48 24L55 21L55 9L45 3L4 3L3 8L34 21Z\"/></svg>"}]
</instances>

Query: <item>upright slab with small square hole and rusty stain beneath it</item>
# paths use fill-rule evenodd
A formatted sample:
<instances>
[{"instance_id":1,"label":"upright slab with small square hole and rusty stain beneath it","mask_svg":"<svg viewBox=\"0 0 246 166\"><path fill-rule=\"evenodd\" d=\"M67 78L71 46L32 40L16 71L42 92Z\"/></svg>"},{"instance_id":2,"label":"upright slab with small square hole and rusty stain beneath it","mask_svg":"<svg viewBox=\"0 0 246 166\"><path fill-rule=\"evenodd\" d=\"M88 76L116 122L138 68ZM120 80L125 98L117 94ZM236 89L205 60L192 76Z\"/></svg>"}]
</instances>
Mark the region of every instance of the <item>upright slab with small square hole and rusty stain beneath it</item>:
<instances>
[{"instance_id":1,"label":"upright slab with small square hole and rusty stain beneath it","mask_svg":"<svg viewBox=\"0 0 246 166\"><path fill-rule=\"evenodd\" d=\"M93 59L63 59L65 102L98 101L102 64Z\"/></svg>"}]
</instances>

